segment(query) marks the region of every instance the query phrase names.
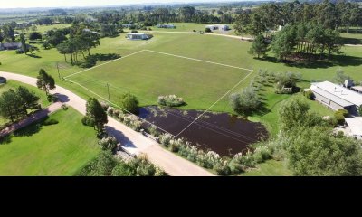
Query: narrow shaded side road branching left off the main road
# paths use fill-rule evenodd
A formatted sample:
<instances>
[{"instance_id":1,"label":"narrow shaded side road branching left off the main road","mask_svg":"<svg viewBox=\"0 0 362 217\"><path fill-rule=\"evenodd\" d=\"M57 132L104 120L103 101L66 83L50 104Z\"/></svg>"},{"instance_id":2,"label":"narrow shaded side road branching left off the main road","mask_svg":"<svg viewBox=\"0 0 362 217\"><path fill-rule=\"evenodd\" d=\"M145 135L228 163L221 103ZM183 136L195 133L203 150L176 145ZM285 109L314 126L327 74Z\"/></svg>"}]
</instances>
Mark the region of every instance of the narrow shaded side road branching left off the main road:
<instances>
[{"instance_id":1,"label":"narrow shaded side road branching left off the main road","mask_svg":"<svg viewBox=\"0 0 362 217\"><path fill-rule=\"evenodd\" d=\"M27 117L17 123L14 123L10 127L6 127L5 129L1 130L0 137L5 137L20 128L29 126L29 125L33 124L35 121L45 118L59 109L62 109L62 102L56 102L56 103L53 103L52 105L50 105L48 108L38 110L38 111L34 112L33 114L31 114L29 117Z\"/></svg>"}]
</instances>

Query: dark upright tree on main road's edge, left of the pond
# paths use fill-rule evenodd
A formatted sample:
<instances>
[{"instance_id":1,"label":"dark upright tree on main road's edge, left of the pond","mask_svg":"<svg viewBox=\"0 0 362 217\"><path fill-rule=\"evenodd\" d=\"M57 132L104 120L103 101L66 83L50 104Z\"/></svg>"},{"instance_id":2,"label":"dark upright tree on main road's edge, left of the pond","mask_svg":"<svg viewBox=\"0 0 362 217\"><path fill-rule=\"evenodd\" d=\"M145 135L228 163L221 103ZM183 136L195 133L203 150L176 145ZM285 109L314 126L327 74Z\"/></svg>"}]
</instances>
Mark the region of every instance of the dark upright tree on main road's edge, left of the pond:
<instances>
[{"instance_id":1,"label":"dark upright tree on main road's edge, left of the pond","mask_svg":"<svg viewBox=\"0 0 362 217\"><path fill-rule=\"evenodd\" d=\"M95 98L90 98L86 104L86 117L94 122L94 127L99 134L104 131L104 125L108 123L106 111Z\"/></svg>"}]
</instances>

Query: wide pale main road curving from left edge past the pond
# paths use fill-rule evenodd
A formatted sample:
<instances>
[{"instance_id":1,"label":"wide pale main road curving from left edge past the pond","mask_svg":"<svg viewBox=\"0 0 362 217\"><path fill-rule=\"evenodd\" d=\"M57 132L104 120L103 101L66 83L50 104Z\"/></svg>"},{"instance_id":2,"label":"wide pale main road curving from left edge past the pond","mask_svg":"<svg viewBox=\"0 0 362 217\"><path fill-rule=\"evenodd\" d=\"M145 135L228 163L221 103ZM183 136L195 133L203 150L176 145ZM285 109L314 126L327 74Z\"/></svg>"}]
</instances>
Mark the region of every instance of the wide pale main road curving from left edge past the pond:
<instances>
[{"instance_id":1,"label":"wide pale main road curving from left edge past the pond","mask_svg":"<svg viewBox=\"0 0 362 217\"><path fill-rule=\"evenodd\" d=\"M20 74L0 71L0 76L10 80L18 80L20 82L36 86L36 79ZM60 86L56 86L52 94L57 94L62 102L85 115L86 100L66 90ZM117 137L124 147L133 154L146 153L149 160L155 165L163 168L169 175L174 176L213 176L204 168L195 165L186 159L176 156L173 153L160 147L155 141L142 134L135 132L129 127L121 124L114 118L109 117L109 123L106 125L107 132L113 137Z\"/></svg>"}]
</instances>

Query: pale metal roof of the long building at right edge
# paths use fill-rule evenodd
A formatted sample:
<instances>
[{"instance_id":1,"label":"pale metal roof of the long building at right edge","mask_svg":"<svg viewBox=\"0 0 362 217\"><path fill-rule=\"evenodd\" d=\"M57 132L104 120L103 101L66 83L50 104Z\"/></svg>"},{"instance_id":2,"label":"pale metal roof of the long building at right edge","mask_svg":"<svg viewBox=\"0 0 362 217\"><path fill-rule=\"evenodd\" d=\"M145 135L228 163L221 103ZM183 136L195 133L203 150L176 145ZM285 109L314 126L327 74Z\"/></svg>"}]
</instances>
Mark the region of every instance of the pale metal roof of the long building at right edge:
<instances>
[{"instance_id":1,"label":"pale metal roof of the long building at right edge","mask_svg":"<svg viewBox=\"0 0 362 217\"><path fill-rule=\"evenodd\" d=\"M352 104L356 106L362 105L362 94L357 93L356 91L349 90L347 88L338 86L329 81L319 82L319 83L312 83L310 88L313 91L319 91L325 95L322 95L336 103L344 103L344 105ZM346 103L348 102L348 103ZM338 105L341 105L338 103ZM343 106L343 105L341 105Z\"/></svg>"}]
</instances>

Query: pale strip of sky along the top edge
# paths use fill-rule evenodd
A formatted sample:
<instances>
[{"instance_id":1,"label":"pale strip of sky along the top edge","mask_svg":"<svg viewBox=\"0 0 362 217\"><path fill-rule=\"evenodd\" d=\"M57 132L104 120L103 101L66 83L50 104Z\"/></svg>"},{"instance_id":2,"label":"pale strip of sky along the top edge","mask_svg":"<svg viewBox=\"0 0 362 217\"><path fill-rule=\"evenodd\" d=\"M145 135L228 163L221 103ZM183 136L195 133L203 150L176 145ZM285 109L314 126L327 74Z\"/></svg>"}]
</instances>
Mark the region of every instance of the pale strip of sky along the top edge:
<instances>
[{"instance_id":1,"label":"pale strip of sky along the top edge","mask_svg":"<svg viewBox=\"0 0 362 217\"><path fill-rule=\"evenodd\" d=\"M243 0L1 0L0 8L71 7L150 3L240 2Z\"/></svg>"}]
</instances>

